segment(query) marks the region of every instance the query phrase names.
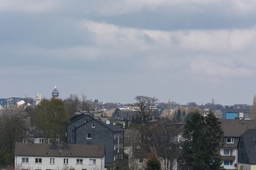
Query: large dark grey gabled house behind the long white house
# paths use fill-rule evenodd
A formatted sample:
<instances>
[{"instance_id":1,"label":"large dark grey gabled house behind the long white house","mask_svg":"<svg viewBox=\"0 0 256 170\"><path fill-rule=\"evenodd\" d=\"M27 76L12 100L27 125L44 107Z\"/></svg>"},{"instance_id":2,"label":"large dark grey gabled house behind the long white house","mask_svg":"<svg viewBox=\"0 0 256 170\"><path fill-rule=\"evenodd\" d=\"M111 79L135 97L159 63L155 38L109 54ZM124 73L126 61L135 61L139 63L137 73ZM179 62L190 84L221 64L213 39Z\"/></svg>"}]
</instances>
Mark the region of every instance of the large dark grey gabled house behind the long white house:
<instances>
[{"instance_id":1,"label":"large dark grey gabled house behind the long white house","mask_svg":"<svg viewBox=\"0 0 256 170\"><path fill-rule=\"evenodd\" d=\"M124 129L80 114L67 125L67 142L72 144L105 145L105 165L123 158Z\"/></svg>"}]
</instances>

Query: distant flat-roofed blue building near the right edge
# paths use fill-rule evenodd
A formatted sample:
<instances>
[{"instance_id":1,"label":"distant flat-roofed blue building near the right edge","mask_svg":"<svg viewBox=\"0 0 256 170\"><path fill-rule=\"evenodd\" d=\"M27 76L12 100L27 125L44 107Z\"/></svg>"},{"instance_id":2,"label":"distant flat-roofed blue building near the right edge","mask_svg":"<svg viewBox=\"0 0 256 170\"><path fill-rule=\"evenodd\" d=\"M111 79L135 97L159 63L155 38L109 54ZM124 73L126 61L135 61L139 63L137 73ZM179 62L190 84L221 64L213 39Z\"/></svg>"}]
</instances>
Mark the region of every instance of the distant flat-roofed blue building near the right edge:
<instances>
[{"instance_id":1,"label":"distant flat-roofed blue building near the right edge","mask_svg":"<svg viewBox=\"0 0 256 170\"><path fill-rule=\"evenodd\" d=\"M224 108L222 119L250 119L250 109Z\"/></svg>"}]
</instances>

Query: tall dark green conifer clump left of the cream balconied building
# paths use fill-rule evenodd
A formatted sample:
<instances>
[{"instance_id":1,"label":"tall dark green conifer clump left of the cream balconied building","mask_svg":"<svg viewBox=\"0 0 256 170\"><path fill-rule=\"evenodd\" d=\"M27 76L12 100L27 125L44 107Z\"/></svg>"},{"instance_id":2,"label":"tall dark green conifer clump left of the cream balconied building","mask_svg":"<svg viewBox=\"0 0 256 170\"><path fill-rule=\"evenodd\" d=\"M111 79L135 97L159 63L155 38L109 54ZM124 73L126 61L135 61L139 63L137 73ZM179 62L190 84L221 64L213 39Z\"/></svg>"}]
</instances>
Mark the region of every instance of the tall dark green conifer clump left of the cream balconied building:
<instances>
[{"instance_id":1,"label":"tall dark green conifer clump left of the cream balconied building","mask_svg":"<svg viewBox=\"0 0 256 170\"><path fill-rule=\"evenodd\" d=\"M220 122L210 113L205 118L197 110L186 121L183 146L187 170L221 170L221 162L217 159L218 147L223 140ZM218 162L218 163L216 163Z\"/></svg>"}]
</instances>

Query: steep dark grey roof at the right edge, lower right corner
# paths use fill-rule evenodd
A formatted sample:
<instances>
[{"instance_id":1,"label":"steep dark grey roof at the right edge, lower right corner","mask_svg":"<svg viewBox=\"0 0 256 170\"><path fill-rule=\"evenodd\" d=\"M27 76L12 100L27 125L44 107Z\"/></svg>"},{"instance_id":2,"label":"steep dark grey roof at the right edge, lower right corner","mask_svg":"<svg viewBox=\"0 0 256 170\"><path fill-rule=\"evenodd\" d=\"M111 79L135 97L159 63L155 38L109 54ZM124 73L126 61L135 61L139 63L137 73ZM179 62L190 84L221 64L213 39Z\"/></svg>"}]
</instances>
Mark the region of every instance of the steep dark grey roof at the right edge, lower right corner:
<instances>
[{"instance_id":1,"label":"steep dark grey roof at the right edge, lower right corner","mask_svg":"<svg viewBox=\"0 0 256 170\"><path fill-rule=\"evenodd\" d=\"M248 156L249 164L256 164L256 129L248 129L241 135Z\"/></svg>"}]
</instances>

